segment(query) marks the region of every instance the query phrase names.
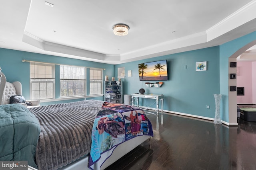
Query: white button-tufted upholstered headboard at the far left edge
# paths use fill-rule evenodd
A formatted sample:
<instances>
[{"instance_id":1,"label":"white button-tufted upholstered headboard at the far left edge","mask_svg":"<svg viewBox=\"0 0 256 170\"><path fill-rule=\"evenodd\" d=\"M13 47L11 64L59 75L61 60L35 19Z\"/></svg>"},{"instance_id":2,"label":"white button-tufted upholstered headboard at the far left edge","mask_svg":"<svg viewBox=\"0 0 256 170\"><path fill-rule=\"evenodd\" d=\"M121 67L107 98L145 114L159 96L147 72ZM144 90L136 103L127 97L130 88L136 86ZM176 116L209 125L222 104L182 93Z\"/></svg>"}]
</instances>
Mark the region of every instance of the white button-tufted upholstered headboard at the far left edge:
<instances>
[{"instance_id":1,"label":"white button-tufted upholstered headboard at the far left edge","mask_svg":"<svg viewBox=\"0 0 256 170\"><path fill-rule=\"evenodd\" d=\"M0 84L0 104L10 104L10 97L22 95L22 86L20 82L7 82L4 73L2 73L2 82Z\"/></svg>"}]
</instances>

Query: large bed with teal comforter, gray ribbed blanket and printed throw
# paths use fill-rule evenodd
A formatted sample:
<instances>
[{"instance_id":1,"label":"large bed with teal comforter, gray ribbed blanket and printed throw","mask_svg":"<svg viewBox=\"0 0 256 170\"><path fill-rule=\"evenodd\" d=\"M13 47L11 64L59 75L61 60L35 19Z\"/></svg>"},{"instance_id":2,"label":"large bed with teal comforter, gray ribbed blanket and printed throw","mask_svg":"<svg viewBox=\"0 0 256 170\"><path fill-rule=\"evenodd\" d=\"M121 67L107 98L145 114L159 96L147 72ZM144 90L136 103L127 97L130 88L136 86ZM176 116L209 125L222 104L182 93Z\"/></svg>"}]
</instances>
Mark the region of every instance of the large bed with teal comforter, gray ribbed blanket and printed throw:
<instances>
[{"instance_id":1,"label":"large bed with teal comforter, gray ribbed blanket and printed throw","mask_svg":"<svg viewBox=\"0 0 256 170\"><path fill-rule=\"evenodd\" d=\"M33 108L8 104L0 114L0 146L10 145L0 148L0 160L28 160L39 170L104 169L153 136L144 111L100 100ZM6 119L9 124L2 126ZM3 141L8 127L13 135Z\"/></svg>"}]
</instances>

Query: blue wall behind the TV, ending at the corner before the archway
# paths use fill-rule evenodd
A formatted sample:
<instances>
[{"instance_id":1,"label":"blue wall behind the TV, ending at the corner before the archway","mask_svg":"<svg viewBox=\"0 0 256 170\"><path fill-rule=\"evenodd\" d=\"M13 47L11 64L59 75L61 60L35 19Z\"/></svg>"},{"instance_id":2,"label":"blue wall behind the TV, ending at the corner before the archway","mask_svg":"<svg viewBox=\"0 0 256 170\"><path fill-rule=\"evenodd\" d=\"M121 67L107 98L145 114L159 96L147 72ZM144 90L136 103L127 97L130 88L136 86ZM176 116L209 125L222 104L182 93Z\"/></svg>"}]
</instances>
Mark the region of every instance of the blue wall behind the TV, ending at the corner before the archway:
<instances>
[{"instance_id":1,"label":"blue wall behind the TV, ending at the corner before the archway","mask_svg":"<svg viewBox=\"0 0 256 170\"><path fill-rule=\"evenodd\" d=\"M158 60L167 60L168 80L163 81L164 84L160 88L148 88L145 81L139 80L138 64ZM206 71L196 71L196 62L201 61L207 61ZM165 110L214 118L213 94L220 93L219 47L117 64L116 76L118 67L125 67L125 78L122 79L124 94L136 93L140 88L144 88L145 93L164 94ZM132 77L127 76L128 70L132 70ZM144 106L155 107L154 100L142 102ZM210 105L210 109L206 109L206 105Z\"/></svg>"}]
</instances>

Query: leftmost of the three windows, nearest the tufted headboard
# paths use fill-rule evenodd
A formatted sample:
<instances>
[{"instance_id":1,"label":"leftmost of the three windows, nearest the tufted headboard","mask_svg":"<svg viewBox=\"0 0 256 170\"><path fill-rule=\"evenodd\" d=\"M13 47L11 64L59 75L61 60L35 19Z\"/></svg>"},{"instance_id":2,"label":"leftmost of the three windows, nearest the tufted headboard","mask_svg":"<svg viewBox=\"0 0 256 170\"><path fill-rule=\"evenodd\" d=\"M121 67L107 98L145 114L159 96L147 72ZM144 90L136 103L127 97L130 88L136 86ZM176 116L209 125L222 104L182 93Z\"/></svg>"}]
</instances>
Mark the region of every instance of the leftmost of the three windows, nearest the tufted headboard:
<instances>
[{"instance_id":1,"label":"leftmost of the three windows, nearest the tufted headboard","mask_svg":"<svg viewBox=\"0 0 256 170\"><path fill-rule=\"evenodd\" d=\"M30 62L30 98L52 99L55 97L55 65Z\"/></svg>"}]
</instances>

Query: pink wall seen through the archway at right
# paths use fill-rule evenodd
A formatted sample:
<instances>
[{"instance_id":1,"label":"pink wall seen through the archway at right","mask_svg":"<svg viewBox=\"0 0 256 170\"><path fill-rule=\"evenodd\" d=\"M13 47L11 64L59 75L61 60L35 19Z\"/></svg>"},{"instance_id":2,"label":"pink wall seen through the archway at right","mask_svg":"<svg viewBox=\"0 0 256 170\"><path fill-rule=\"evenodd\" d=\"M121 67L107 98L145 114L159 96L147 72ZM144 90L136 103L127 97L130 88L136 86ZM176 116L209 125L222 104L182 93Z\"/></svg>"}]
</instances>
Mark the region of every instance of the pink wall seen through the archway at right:
<instances>
[{"instance_id":1,"label":"pink wall seen through the archway at right","mask_svg":"<svg viewBox=\"0 0 256 170\"><path fill-rule=\"evenodd\" d=\"M254 66L252 66L254 65ZM256 66L255 62L237 62L237 69L238 72L236 74L236 86L237 87L244 87L244 96L237 96L236 100L238 104L253 104L253 90L252 85L254 84L254 87L256 85L255 78L252 80L252 74L255 72L256 68L253 68ZM240 72L239 72L240 70ZM254 71L253 71L254 70ZM255 75L255 73L254 73ZM256 75L255 75L256 76ZM256 97L254 97L254 100L256 100Z\"/></svg>"}]
</instances>

